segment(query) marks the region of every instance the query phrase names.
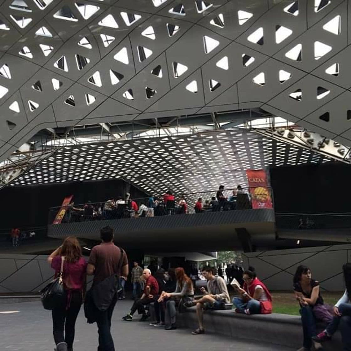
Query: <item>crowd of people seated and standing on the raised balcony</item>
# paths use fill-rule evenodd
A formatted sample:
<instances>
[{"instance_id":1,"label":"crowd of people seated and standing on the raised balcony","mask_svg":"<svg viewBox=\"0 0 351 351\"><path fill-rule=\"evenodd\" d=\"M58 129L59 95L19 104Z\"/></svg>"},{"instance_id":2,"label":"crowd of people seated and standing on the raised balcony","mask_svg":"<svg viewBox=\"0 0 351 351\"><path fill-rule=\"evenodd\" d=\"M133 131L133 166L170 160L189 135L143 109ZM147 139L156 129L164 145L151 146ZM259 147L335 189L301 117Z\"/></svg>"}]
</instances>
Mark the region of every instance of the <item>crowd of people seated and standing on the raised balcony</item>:
<instances>
[{"instance_id":1,"label":"crowd of people seated and standing on the raised balcony","mask_svg":"<svg viewBox=\"0 0 351 351\"><path fill-rule=\"evenodd\" d=\"M246 210L251 208L250 195L240 185L232 190L229 197L224 195L224 185L220 185L216 196L203 201L198 198L193 211L190 211L189 204L184 195L179 199L171 190L167 190L163 196L150 196L148 199L132 199L127 193L126 198L121 196L110 197L105 203L87 201L81 207L75 207L72 201L65 207L66 214L63 223L85 220L120 219L137 217L166 216L173 214L189 214L190 212L204 213L229 210ZM206 193L210 195L210 193ZM138 205L138 203L139 205Z\"/></svg>"}]
</instances>

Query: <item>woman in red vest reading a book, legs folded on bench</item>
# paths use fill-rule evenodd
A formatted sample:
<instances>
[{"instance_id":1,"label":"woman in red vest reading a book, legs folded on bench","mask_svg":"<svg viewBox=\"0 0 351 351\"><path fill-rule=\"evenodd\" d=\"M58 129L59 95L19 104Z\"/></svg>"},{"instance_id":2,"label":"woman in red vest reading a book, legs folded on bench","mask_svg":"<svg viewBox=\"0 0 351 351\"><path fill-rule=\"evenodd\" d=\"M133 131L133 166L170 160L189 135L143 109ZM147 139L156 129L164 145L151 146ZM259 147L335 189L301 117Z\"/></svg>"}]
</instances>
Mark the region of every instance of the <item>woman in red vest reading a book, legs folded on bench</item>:
<instances>
[{"instance_id":1,"label":"woman in red vest reading a book, legs folded on bench","mask_svg":"<svg viewBox=\"0 0 351 351\"><path fill-rule=\"evenodd\" d=\"M238 283L232 282L241 297L233 298L235 312L245 314L272 313L272 296L267 287L256 277L253 271L243 273L244 289Z\"/></svg>"}]
</instances>

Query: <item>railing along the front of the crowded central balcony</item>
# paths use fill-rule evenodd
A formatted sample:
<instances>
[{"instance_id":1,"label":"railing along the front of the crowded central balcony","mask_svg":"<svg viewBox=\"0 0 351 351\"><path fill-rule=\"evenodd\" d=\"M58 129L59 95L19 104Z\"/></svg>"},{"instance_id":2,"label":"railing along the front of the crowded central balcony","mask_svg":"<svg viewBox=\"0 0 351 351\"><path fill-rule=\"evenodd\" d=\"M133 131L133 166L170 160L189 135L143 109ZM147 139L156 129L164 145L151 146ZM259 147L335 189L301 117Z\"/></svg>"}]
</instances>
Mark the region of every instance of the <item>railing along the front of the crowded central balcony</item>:
<instances>
[{"instance_id":1,"label":"railing along the front of the crowded central balcony","mask_svg":"<svg viewBox=\"0 0 351 351\"><path fill-rule=\"evenodd\" d=\"M199 198L201 198L200 204ZM272 188L231 188L126 200L108 199L104 202L86 204L72 203L64 207L51 207L48 222L49 224L54 222L59 224L101 219L248 210L251 208L273 208ZM58 217L61 218L58 219Z\"/></svg>"}]
</instances>

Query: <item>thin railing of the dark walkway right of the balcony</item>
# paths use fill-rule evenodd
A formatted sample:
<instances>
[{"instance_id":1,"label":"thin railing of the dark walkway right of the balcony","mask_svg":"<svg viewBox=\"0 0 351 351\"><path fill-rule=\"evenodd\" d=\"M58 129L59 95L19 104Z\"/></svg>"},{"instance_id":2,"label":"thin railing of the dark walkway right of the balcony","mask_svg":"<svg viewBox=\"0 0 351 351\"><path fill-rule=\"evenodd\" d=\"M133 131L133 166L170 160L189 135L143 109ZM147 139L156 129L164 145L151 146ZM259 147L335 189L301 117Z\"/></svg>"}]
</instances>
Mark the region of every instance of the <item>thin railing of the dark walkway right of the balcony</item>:
<instances>
[{"instance_id":1,"label":"thin railing of the dark walkway right of the balcony","mask_svg":"<svg viewBox=\"0 0 351 351\"><path fill-rule=\"evenodd\" d=\"M343 213L276 213L278 229L351 228L351 212Z\"/></svg>"}]
</instances>

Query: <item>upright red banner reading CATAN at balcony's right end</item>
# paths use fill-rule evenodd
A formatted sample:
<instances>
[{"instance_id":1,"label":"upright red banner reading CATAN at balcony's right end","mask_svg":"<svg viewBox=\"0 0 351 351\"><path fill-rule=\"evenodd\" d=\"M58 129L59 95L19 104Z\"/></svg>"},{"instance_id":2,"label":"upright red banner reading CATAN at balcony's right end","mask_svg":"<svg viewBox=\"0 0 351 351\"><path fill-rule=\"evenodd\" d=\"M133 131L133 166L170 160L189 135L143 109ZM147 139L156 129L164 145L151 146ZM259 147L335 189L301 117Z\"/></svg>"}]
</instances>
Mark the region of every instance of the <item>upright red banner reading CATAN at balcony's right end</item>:
<instances>
[{"instance_id":1,"label":"upright red banner reading CATAN at balcony's right end","mask_svg":"<svg viewBox=\"0 0 351 351\"><path fill-rule=\"evenodd\" d=\"M273 208L265 170L246 170L246 177L251 188L252 208Z\"/></svg>"}]
</instances>

